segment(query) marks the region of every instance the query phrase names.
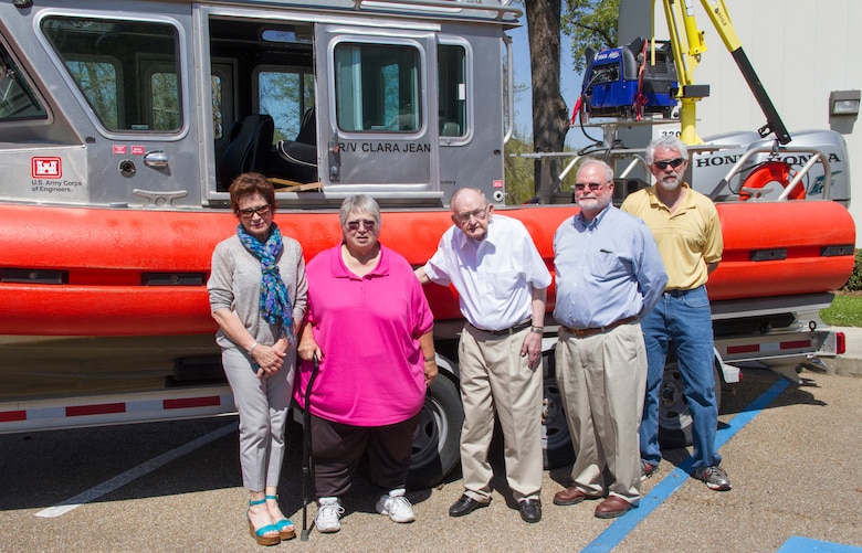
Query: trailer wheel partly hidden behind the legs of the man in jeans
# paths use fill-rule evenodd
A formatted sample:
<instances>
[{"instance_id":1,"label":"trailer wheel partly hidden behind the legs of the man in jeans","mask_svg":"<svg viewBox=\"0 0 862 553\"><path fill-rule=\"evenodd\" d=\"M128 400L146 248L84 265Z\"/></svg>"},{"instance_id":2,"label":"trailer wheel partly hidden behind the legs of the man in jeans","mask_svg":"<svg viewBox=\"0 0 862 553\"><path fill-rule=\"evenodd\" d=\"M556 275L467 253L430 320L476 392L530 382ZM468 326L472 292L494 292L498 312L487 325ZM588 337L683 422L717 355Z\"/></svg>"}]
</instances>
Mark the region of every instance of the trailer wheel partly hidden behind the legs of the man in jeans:
<instances>
[{"instance_id":1,"label":"trailer wheel partly hidden behind the legs of the man in jeans","mask_svg":"<svg viewBox=\"0 0 862 553\"><path fill-rule=\"evenodd\" d=\"M722 375L718 360L713 363L715 404L722 406ZM659 389L659 446L676 449L692 445L692 414L685 401L685 384L676 361L664 365Z\"/></svg>"}]
</instances>

